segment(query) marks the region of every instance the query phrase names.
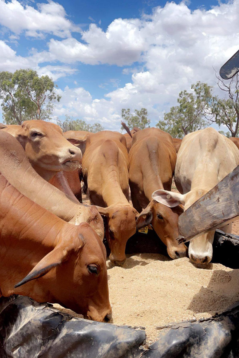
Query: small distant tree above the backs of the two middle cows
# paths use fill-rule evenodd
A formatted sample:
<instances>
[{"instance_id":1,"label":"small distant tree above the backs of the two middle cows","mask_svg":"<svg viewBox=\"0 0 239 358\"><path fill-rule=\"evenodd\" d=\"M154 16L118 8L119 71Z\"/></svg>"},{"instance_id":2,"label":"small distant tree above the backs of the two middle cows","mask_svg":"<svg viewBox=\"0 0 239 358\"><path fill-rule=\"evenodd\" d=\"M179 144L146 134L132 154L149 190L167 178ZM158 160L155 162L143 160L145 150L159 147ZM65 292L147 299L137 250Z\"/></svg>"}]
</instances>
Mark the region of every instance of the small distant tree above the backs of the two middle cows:
<instances>
[{"instance_id":1,"label":"small distant tree above the backs of the two middle cows","mask_svg":"<svg viewBox=\"0 0 239 358\"><path fill-rule=\"evenodd\" d=\"M134 127L138 127L140 129L144 129L146 126L149 127L150 119L147 117L147 109L141 108L141 110L134 110L134 112L134 114L130 113L130 108L122 108L121 110L123 121L127 122L129 129L132 130ZM121 130L123 130L123 127L121 127Z\"/></svg>"}]
</instances>

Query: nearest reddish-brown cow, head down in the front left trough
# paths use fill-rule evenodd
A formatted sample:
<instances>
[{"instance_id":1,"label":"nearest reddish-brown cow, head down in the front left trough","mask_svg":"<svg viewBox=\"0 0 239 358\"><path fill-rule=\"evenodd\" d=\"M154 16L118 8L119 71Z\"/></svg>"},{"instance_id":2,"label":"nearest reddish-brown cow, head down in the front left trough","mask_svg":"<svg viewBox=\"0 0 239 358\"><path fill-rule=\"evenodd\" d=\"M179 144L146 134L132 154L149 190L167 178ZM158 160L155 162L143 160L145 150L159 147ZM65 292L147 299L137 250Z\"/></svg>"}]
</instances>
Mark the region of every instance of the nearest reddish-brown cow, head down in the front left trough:
<instances>
[{"instance_id":1,"label":"nearest reddish-brown cow, head down in the front left trough","mask_svg":"<svg viewBox=\"0 0 239 358\"><path fill-rule=\"evenodd\" d=\"M30 296L108 322L106 250L95 231L49 213L2 174L0 192L0 296Z\"/></svg>"}]
</instances>

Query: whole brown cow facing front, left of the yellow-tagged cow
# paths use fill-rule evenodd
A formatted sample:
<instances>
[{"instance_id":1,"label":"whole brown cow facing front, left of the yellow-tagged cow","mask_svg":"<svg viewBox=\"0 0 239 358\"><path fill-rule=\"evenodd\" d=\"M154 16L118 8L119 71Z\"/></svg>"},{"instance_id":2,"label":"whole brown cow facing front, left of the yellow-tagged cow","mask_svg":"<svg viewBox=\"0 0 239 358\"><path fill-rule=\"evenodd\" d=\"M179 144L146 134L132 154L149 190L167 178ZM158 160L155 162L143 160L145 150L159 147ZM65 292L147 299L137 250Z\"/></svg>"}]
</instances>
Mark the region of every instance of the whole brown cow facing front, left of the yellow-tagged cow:
<instances>
[{"instance_id":1,"label":"whole brown cow facing front, left of the yellow-tagged cow","mask_svg":"<svg viewBox=\"0 0 239 358\"><path fill-rule=\"evenodd\" d=\"M91 204L106 217L105 233L110 260L125 262L125 245L136 232L138 212L129 204L129 158L125 137L118 132L101 131L86 139L82 159L83 180Z\"/></svg>"}]
</instances>

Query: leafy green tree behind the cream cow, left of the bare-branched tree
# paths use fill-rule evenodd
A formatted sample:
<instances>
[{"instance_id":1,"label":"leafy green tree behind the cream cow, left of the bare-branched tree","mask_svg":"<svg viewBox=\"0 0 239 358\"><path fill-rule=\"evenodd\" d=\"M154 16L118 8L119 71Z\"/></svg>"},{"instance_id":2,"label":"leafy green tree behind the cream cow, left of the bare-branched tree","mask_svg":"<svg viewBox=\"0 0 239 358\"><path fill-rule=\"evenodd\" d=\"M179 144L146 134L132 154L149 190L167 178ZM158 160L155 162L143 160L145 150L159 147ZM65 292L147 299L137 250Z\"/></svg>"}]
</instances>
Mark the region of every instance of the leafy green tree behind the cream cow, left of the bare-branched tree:
<instances>
[{"instance_id":1,"label":"leafy green tree behind the cream cow, left of the bare-branched tree","mask_svg":"<svg viewBox=\"0 0 239 358\"><path fill-rule=\"evenodd\" d=\"M164 121L156 125L175 138L183 138L186 134L207 126L207 109L212 101L212 86L207 83L192 84L194 93L186 90L179 93L178 106L171 107L164 115Z\"/></svg>"}]
</instances>

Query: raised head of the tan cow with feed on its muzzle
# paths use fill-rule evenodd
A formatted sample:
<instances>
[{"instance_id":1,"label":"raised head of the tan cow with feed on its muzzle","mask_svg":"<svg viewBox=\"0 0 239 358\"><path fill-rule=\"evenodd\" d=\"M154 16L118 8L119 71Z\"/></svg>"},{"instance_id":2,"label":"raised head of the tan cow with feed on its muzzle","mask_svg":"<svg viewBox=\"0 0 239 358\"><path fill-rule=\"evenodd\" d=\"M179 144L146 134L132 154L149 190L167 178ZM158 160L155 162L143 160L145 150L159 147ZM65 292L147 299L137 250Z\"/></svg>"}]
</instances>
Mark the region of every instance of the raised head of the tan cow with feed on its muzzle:
<instances>
[{"instance_id":1,"label":"raised head of the tan cow with feed on its muzzle","mask_svg":"<svg viewBox=\"0 0 239 358\"><path fill-rule=\"evenodd\" d=\"M14 126L16 127L16 126ZM33 168L49 180L56 171L70 171L79 166L81 150L63 137L62 129L54 123L40 120L25 121L14 136L25 149ZM11 133L11 126L4 129Z\"/></svg>"}]
</instances>

